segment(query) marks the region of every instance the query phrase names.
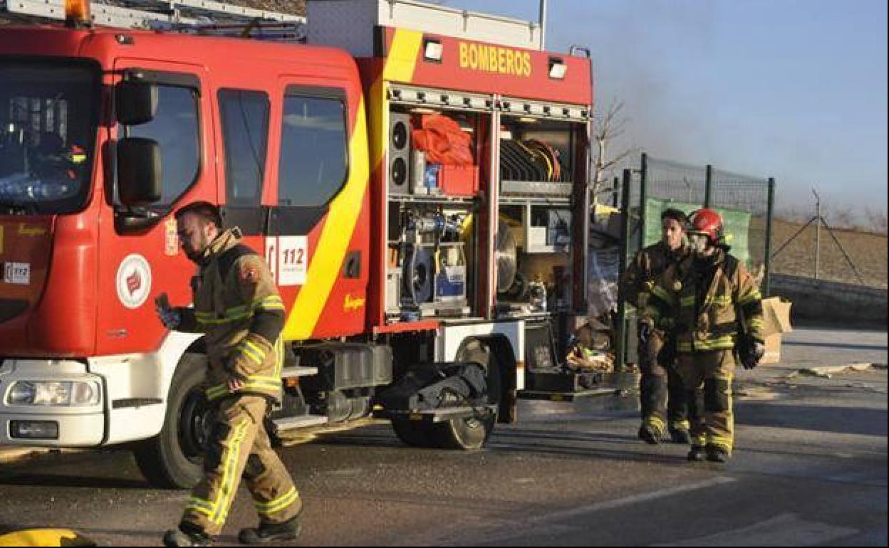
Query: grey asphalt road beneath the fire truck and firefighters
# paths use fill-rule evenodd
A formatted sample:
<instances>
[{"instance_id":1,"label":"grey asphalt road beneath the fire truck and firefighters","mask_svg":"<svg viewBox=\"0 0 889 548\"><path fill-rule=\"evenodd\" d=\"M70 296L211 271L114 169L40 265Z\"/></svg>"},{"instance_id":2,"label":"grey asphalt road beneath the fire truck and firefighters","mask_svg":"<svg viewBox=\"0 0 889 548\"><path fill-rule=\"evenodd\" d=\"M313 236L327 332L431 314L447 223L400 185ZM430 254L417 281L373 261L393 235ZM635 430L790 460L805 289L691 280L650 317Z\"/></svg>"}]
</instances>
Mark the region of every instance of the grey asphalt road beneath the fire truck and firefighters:
<instances>
[{"instance_id":1,"label":"grey asphalt road beneath the fire truck and firefighters","mask_svg":"<svg viewBox=\"0 0 889 548\"><path fill-rule=\"evenodd\" d=\"M408 449L388 425L281 449L306 504L305 545L886 545L885 332L798 330L784 361L739 372L728 465L637 441L619 398L524 401L487 449ZM821 371L823 372L823 371ZM819 371L813 371L819 373ZM159 544L187 494L148 488L123 452L0 465L0 529L74 528ZM241 490L220 544L255 518Z\"/></svg>"}]
</instances>

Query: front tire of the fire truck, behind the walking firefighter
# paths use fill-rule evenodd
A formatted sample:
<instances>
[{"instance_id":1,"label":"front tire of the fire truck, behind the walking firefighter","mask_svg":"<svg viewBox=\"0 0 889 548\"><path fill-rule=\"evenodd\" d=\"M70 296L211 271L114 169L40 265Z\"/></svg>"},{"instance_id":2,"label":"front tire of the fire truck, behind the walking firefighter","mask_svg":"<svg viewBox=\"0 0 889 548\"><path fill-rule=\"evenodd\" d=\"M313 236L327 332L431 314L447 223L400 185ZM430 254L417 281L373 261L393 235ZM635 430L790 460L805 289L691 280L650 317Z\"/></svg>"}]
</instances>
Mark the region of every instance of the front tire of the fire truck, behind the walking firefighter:
<instances>
[{"instance_id":1,"label":"front tire of the fire truck, behind the walking firefighter","mask_svg":"<svg viewBox=\"0 0 889 548\"><path fill-rule=\"evenodd\" d=\"M172 377L163 430L133 449L141 473L156 488L188 489L201 479L210 413L202 388L205 376L204 356L182 356Z\"/></svg>"}]
</instances>

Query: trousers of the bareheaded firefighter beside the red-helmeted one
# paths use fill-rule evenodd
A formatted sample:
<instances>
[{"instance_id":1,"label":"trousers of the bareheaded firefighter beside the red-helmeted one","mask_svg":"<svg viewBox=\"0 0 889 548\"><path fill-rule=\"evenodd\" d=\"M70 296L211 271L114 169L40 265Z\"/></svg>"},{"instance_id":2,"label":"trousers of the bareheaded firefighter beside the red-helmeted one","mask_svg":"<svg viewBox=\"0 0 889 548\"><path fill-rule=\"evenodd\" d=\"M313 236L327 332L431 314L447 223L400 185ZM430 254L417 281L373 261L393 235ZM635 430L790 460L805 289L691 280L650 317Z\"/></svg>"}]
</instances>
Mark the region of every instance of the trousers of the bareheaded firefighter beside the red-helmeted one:
<instances>
[{"instance_id":1,"label":"trousers of the bareheaded firefighter beside the red-helmeted one","mask_svg":"<svg viewBox=\"0 0 889 548\"><path fill-rule=\"evenodd\" d=\"M639 348L639 399L642 408L642 424L658 432L690 430L688 402L682 379L674 364L662 364L659 356L664 339L653 334L645 347Z\"/></svg>"}]
</instances>

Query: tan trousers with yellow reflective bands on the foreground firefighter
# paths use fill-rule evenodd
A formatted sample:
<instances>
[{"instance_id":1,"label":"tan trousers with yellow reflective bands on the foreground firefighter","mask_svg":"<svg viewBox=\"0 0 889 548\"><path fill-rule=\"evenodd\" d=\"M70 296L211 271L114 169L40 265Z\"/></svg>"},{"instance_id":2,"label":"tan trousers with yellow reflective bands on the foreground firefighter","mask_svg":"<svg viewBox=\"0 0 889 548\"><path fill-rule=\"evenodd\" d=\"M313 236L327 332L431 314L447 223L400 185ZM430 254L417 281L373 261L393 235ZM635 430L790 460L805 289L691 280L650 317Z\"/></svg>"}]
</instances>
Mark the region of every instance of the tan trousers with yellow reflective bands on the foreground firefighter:
<instances>
[{"instance_id":1,"label":"tan trousers with yellow reflective bands on the foreground firefighter","mask_svg":"<svg viewBox=\"0 0 889 548\"><path fill-rule=\"evenodd\" d=\"M204 478L188 499L182 528L218 535L242 475L261 521L281 523L300 513L300 494L263 425L267 408L268 401L254 395L220 401L204 454Z\"/></svg>"}]
</instances>

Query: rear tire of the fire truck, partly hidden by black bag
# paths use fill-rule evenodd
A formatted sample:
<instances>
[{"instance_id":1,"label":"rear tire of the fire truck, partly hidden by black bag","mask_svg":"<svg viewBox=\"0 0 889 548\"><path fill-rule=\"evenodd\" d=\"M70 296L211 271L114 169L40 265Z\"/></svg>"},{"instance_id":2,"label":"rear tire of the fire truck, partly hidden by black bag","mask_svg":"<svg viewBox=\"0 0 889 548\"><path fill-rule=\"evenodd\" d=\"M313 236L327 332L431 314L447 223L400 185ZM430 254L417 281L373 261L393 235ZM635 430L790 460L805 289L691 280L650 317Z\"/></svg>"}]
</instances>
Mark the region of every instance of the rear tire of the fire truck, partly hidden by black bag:
<instances>
[{"instance_id":1,"label":"rear tire of the fire truck, partly hidden by black bag","mask_svg":"<svg viewBox=\"0 0 889 548\"><path fill-rule=\"evenodd\" d=\"M469 343L460 354L460 361L475 361L487 371L488 403L500 406L501 371L491 350L477 341ZM432 425L429 438L441 449L481 449L497 424L497 411L485 417L454 418Z\"/></svg>"}]
</instances>

